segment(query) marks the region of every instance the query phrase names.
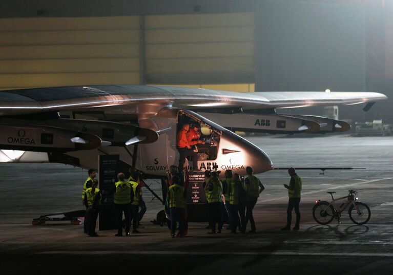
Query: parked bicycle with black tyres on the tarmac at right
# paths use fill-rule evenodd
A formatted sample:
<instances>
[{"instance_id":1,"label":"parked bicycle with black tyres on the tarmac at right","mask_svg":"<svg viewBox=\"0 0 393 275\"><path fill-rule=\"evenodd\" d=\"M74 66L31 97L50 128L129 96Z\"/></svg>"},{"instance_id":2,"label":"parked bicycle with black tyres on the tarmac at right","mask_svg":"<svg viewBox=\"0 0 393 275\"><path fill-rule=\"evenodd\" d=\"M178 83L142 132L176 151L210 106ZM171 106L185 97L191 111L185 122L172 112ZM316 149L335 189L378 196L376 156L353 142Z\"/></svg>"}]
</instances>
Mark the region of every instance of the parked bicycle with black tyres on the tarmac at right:
<instances>
[{"instance_id":1,"label":"parked bicycle with black tyres on the tarmac at right","mask_svg":"<svg viewBox=\"0 0 393 275\"><path fill-rule=\"evenodd\" d=\"M368 222L371 217L370 208L358 201L357 191L356 190L349 190L348 196L341 197L338 199L333 198L333 194L336 192L326 192L332 196L332 201L316 201L316 204L313 207L313 218L319 224L328 224L336 219L340 224L341 213L345 210L345 208L349 206L348 215L349 219L358 225L362 225ZM336 201L344 200L339 208L337 208Z\"/></svg>"}]
</instances>

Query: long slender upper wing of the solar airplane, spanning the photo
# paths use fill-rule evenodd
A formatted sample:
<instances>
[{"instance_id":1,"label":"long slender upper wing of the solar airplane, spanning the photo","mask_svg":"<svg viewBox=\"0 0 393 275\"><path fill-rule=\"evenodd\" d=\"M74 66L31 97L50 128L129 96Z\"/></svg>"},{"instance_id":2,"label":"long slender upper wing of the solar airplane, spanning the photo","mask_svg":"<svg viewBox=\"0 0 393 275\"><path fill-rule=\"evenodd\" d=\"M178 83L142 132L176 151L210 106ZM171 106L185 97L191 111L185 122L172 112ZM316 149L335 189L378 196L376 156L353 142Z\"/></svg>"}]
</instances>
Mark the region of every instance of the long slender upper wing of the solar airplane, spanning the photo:
<instances>
[{"instance_id":1,"label":"long slender upper wing of the solar airplane, spanning the photo","mask_svg":"<svg viewBox=\"0 0 393 275\"><path fill-rule=\"evenodd\" d=\"M351 105L386 98L371 92L235 93L169 86L74 86L2 91L0 116L152 103L192 110L211 107L259 110Z\"/></svg>"}]
</instances>

